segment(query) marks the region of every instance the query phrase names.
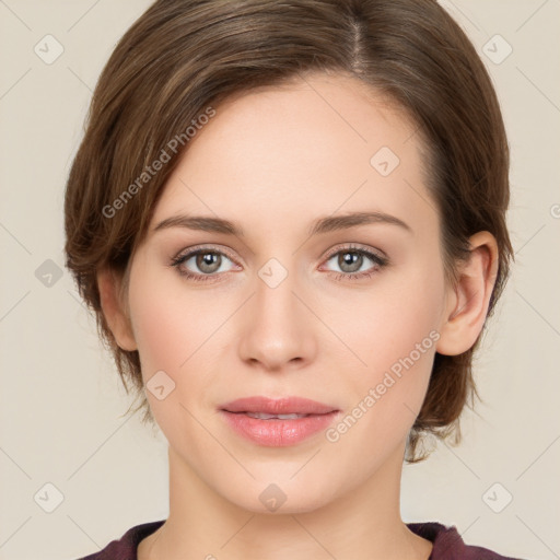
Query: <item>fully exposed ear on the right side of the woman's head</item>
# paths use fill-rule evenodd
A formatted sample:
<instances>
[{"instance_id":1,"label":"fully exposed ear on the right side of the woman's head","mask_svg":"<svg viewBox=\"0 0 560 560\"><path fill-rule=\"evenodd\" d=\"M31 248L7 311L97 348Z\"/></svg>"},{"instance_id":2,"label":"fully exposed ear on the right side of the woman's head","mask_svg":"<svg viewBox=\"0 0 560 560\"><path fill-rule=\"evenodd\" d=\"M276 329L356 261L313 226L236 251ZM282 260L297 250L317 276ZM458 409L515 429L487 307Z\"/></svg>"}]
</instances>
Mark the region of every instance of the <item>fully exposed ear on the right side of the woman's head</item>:
<instances>
[{"instance_id":1,"label":"fully exposed ear on the right side of the woman's head","mask_svg":"<svg viewBox=\"0 0 560 560\"><path fill-rule=\"evenodd\" d=\"M456 355L471 348L485 326L498 273L498 244L490 232L469 238L470 258L458 270L458 282L447 288L447 303L436 351Z\"/></svg>"}]
</instances>

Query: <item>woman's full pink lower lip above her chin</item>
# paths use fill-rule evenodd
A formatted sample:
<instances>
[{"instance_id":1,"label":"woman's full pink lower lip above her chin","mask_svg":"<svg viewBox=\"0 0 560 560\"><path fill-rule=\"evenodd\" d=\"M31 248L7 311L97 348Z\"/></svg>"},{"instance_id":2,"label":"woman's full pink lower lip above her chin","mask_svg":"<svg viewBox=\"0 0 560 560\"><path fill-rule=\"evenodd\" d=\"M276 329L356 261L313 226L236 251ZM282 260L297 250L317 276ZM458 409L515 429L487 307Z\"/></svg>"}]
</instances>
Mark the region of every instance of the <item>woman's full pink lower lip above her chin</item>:
<instances>
[{"instance_id":1,"label":"woman's full pink lower lip above her chin","mask_svg":"<svg viewBox=\"0 0 560 560\"><path fill-rule=\"evenodd\" d=\"M260 420L245 413L220 411L225 421L240 435L268 447L287 447L326 430L332 422L338 411L326 415L310 415L293 420Z\"/></svg>"}]
</instances>

